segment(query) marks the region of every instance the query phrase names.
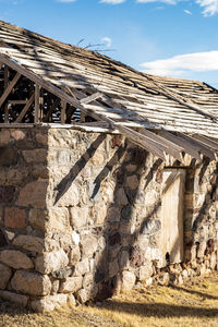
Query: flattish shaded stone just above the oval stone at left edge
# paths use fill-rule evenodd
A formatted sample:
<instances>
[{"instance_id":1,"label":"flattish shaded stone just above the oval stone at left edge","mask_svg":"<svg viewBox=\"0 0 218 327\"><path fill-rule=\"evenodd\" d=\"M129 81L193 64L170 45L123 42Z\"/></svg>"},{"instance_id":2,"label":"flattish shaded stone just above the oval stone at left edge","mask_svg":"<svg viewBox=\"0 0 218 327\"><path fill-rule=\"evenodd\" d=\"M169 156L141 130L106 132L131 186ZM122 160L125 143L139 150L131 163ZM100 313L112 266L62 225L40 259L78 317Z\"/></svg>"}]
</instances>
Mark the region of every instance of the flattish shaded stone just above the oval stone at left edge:
<instances>
[{"instance_id":1,"label":"flattish shaded stone just above the oval stone at left edge","mask_svg":"<svg viewBox=\"0 0 218 327\"><path fill-rule=\"evenodd\" d=\"M19 235L13 241L13 245L22 247L27 251L43 253L44 251L44 239L29 237L29 235Z\"/></svg>"}]
</instances>

